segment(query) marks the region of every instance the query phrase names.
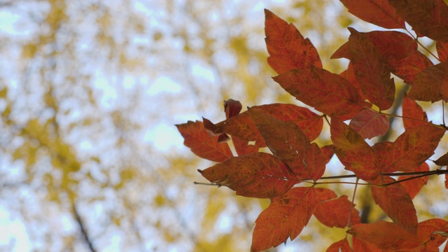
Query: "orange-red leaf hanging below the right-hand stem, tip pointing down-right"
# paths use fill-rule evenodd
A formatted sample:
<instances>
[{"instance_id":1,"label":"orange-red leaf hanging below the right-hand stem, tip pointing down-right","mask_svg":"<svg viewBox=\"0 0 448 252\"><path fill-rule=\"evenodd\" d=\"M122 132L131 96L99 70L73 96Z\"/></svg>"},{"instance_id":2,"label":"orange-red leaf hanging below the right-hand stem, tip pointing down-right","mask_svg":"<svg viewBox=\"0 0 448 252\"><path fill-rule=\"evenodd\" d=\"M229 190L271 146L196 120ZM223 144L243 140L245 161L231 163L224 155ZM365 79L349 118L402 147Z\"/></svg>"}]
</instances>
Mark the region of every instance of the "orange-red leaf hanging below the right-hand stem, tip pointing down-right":
<instances>
[{"instance_id":1,"label":"orange-red leaf hanging below the right-hand stem, tip pointing down-right","mask_svg":"<svg viewBox=\"0 0 448 252\"><path fill-rule=\"evenodd\" d=\"M372 184L378 185L371 188L373 200L391 218L393 223L400 225L409 234L416 235L418 225L416 210L405 187L400 183L379 187L392 182L395 182L395 179L388 176L381 176L373 181Z\"/></svg>"}]
</instances>

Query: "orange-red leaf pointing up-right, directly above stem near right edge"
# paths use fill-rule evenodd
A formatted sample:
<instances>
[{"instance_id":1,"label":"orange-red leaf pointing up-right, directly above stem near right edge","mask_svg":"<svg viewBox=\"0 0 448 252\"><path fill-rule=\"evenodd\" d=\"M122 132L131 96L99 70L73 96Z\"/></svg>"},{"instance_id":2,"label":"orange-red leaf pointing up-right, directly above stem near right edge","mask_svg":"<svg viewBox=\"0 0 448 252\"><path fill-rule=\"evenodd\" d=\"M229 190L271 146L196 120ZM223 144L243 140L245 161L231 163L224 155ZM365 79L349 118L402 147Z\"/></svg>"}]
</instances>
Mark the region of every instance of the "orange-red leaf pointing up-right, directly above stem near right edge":
<instances>
[{"instance_id":1,"label":"orange-red leaf pointing up-right, directly above stem near right edge","mask_svg":"<svg viewBox=\"0 0 448 252\"><path fill-rule=\"evenodd\" d=\"M386 158L384 172L413 172L430 156L445 130L434 125L422 125L406 130L398 137Z\"/></svg>"}]
</instances>

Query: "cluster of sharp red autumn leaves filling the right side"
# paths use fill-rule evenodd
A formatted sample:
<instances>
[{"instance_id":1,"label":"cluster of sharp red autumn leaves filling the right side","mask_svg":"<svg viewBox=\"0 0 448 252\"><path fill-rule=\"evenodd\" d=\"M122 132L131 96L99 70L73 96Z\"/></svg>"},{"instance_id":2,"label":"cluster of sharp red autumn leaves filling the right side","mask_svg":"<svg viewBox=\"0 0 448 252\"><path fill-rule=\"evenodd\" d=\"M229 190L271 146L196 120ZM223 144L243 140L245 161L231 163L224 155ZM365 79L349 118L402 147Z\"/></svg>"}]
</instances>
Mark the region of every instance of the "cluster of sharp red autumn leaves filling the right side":
<instances>
[{"instance_id":1,"label":"cluster of sharp red autumn leaves filling the right side","mask_svg":"<svg viewBox=\"0 0 448 252\"><path fill-rule=\"evenodd\" d=\"M237 195L271 200L255 221L252 251L295 239L313 215L323 225L347 229L346 237L328 251L438 251L448 237L448 222L419 222L412 199L428 176L447 176L447 170L430 171L426 162L447 127L429 121L416 101L448 101L448 6L442 0L342 3L353 15L386 30L349 27L348 41L332 55L349 59L340 74L323 69L316 48L293 24L265 10L267 62L278 73L274 80L318 113L293 104L252 106L241 113L241 103L229 99L224 103L226 120L204 118L177 125L178 130L193 153L218 162L199 170L204 178ZM435 41L437 64L419 51L419 45L428 50L419 41L423 36ZM410 87L400 104L401 116L384 113L398 101L396 79ZM386 134L393 117L402 118L405 127L395 141L365 141ZM318 146L314 141L324 121L332 144ZM270 153L260 151L265 147ZM374 202L391 222L361 223L353 200L321 186L333 155L353 172L356 186L371 186ZM435 164L448 165L447 157Z\"/></svg>"}]
</instances>

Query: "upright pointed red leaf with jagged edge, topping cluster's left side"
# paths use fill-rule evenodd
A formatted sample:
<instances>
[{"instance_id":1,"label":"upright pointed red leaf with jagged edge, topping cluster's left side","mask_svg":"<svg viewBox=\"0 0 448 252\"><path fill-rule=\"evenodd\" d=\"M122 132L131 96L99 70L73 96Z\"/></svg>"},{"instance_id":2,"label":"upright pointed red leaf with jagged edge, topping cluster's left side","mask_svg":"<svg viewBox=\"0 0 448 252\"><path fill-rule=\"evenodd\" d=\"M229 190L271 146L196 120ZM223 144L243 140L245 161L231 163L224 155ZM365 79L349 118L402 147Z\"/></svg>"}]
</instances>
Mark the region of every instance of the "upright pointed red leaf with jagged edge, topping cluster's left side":
<instances>
[{"instance_id":1,"label":"upright pointed red leaf with jagged edge, topping cluster's left side","mask_svg":"<svg viewBox=\"0 0 448 252\"><path fill-rule=\"evenodd\" d=\"M307 66L322 68L314 45L293 24L289 24L265 9L265 34L269 57L267 63L277 73L286 73Z\"/></svg>"}]
</instances>

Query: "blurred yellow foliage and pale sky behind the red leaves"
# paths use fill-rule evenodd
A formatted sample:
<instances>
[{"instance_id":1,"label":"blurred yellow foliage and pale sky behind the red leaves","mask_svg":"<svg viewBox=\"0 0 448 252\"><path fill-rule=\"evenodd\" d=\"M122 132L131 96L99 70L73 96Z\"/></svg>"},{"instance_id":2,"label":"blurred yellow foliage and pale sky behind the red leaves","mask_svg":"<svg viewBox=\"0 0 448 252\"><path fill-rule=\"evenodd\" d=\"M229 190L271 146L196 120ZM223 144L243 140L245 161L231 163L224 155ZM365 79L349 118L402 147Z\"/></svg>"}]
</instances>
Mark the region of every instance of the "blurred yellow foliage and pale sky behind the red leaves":
<instances>
[{"instance_id":1,"label":"blurred yellow foliage and pale sky behind the red leaves","mask_svg":"<svg viewBox=\"0 0 448 252\"><path fill-rule=\"evenodd\" d=\"M217 123L230 98L297 104L271 79L264 8L344 70L330 55L359 22L339 1L0 1L0 251L248 251L268 201L194 185L213 163L174 125ZM342 237L313 224L271 251Z\"/></svg>"}]
</instances>

